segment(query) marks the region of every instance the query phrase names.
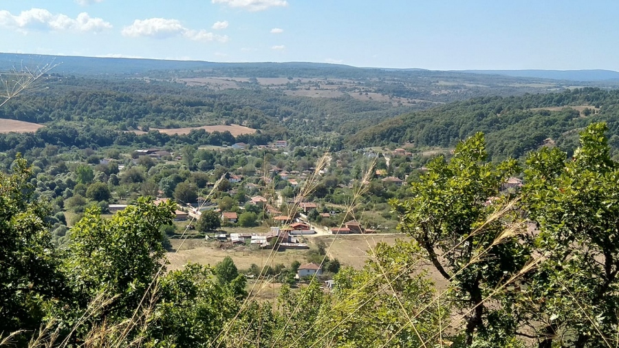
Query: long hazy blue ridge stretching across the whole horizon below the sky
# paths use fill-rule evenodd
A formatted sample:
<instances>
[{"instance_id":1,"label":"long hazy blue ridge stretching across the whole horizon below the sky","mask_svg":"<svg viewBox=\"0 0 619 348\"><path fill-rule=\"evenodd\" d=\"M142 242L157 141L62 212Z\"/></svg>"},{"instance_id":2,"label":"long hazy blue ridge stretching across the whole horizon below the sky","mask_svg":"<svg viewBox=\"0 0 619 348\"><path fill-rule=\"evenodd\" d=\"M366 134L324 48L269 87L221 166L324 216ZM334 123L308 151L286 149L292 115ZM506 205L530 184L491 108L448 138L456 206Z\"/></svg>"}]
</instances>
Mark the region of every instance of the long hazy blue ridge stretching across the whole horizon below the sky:
<instances>
[{"instance_id":1,"label":"long hazy blue ridge stretching across the whole horizon below the sky","mask_svg":"<svg viewBox=\"0 0 619 348\"><path fill-rule=\"evenodd\" d=\"M330 63L217 63L208 61L164 61L146 58L102 58L85 56L48 56L43 54L0 53L0 71L16 67L36 67L60 63L54 69L58 74L78 75L133 75L154 73L158 77L171 72L192 72L209 76L243 77L334 77L334 78L459 78L461 83L479 83L479 75L493 83L525 83L531 80L611 81L619 82L619 72L610 70L461 70L439 71L427 69L391 69L380 67L353 67ZM170 75L170 74L168 74ZM494 76L488 76L494 75ZM499 77L502 76L502 77ZM168 76L169 77L169 76ZM501 80L502 79L502 80ZM505 80L511 79L511 81ZM483 83L487 83L484 81Z\"/></svg>"}]
</instances>

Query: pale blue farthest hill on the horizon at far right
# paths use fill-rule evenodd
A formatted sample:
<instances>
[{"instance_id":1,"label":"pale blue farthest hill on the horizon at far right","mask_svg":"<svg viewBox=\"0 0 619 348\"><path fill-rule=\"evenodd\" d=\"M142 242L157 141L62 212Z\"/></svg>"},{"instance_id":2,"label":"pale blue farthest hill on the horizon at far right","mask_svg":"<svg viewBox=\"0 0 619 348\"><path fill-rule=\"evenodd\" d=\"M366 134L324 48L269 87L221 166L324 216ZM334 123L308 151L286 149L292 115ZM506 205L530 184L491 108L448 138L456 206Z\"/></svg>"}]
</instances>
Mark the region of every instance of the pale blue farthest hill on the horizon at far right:
<instances>
[{"instance_id":1,"label":"pale blue farthest hill on the horizon at far right","mask_svg":"<svg viewBox=\"0 0 619 348\"><path fill-rule=\"evenodd\" d=\"M604 81L619 79L619 72L613 70L457 70L457 72L570 81Z\"/></svg>"}]
</instances>

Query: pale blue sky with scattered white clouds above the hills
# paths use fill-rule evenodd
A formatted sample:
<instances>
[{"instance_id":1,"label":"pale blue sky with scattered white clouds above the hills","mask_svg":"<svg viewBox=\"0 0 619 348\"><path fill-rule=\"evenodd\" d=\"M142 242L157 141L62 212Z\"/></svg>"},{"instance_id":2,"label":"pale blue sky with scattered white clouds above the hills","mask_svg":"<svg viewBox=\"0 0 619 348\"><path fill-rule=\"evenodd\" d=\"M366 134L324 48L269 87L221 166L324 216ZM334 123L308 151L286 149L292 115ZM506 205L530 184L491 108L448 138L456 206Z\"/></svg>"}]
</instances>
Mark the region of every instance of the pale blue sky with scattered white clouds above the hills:
<instances>
[{"instance_id":1,"label":"pale blue sky with scattered white clouds above the hills","mask_svg":"<svg viewBox=\"0 0 619 348\"><path fill-rule=\"evenodd\" d=\"M619 1L0 0L0 52L619 71Z\"/></svg>"}]
</instances>

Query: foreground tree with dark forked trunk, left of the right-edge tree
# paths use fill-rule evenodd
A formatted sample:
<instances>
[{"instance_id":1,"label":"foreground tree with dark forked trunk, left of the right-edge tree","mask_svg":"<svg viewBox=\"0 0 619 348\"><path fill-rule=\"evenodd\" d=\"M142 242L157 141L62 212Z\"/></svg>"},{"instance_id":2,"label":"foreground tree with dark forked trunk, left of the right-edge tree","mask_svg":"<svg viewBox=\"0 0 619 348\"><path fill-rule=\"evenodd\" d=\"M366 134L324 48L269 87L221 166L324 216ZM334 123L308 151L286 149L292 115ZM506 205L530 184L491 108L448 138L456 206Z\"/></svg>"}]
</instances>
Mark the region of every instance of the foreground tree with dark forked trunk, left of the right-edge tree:
<instances>
[{"instance_id":1,"label":"foreground tree with dark forked trunk, left of the right-edge tree","mask_svg":"<svg viewBox=\"0 0 619 348\"><path fill-rule=\"evenodd\" d=\"M490 199L499 196L517 164L486 162L485 147L481 133L460 142L450 162L440 156L428 164L428 173L412 184L411 199L391 201L400 215L400 230L415 239L424 257L453 285L451 305L468 313L462 333L467 346L486 341L506 345L514 337L517 316L510 303L501 303L497 289L522 269L529 255L527 243L517 237L517 212L503 208L510 197ZM502 233L512 228L513 233Z\"/></svg>"}]
</instances>

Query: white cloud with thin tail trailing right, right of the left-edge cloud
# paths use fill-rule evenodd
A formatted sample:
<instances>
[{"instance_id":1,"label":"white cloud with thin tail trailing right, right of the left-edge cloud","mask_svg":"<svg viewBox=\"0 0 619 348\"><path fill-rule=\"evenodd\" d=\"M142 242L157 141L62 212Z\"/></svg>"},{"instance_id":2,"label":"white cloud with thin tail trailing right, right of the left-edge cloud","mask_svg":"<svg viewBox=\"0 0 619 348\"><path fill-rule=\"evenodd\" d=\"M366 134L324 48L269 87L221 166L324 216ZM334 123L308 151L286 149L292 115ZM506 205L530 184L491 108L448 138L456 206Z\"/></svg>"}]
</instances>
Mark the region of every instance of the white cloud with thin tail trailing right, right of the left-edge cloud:
<instances>
[{"instance_id":1,"label":"white cloud with thin tail trailing right, right of the left-edge cloud","mask_svg":"<svg viewBox=\"0 0 619 348\"><path fill-rule=\"evenodd\" d=\"M164 18L135 19L133 24L124 27L121 33L124 36L147 36L155 39L184 36L193 41L228 41L226 35L216 35L206 30L188 29L177 19Z\"/></svg>"}]
</instances>

